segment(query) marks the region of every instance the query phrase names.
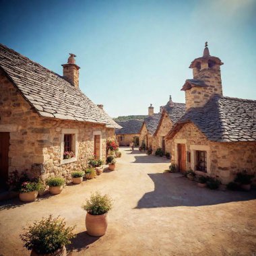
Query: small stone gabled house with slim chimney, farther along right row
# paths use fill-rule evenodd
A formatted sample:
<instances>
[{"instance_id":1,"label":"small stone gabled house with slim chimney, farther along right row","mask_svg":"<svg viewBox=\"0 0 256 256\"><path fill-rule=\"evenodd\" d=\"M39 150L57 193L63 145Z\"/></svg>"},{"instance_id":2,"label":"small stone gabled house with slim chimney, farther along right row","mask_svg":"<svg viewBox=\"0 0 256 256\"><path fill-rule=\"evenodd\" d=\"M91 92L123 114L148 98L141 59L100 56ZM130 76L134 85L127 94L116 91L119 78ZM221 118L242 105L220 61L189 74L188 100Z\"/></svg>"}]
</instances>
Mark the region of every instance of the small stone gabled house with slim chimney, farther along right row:
<instances>
[{"instance_id":1,"label":"small stone gabled house with slim chimney, farther along right row","mask_svg":"<svg viewBox=\"0 0 256 256\"><path fill-rule=\"evenodd\" d=\"M160 117L160 113L155 114L154 107L152 106L152 104L150 104L150 106L148 107L148 117L144 119L142 127L139 131L139 145L144 142L147 149L152 149L153 134L158 127Z\"/></svg>"}]
</instances>

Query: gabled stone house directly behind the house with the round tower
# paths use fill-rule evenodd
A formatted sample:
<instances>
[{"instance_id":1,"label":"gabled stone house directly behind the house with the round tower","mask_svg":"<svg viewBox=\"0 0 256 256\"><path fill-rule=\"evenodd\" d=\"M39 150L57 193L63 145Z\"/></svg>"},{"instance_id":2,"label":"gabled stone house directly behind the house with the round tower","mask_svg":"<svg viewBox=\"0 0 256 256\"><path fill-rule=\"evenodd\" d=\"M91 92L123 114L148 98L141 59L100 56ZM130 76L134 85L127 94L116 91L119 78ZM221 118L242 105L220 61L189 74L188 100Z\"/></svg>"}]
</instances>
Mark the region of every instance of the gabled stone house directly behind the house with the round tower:
<instances>
[{"instance_id":1,"label":"gabled stone house directly behind the house with the round tower","mask_svg":"<svg viewBox=\"0 0 256 256\"><path fill-rule=\"evenodd\" d=\"M185 114L185 109L184 103L172 102L171 96L165 106L160 106L161 117L152 138L153 154L158 148L162 148L164 153L170 153L170 140L166 141L165 136Z\"/></svg>"}]
</instances>

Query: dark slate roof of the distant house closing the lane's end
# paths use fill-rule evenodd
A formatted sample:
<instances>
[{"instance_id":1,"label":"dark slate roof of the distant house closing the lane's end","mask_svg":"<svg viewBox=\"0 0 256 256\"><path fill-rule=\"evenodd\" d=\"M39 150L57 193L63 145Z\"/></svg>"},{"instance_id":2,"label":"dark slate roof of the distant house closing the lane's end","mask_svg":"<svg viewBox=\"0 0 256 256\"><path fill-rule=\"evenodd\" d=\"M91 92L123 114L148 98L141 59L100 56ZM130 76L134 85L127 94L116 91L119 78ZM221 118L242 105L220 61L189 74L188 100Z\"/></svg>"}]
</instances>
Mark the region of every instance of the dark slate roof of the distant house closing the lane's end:
<instances>
[{"instance_id":1,"label":"dark slate roof of the distant house closing the lane's end","mask_svg":"<svg viewBox=\"0 0 256 256\"><path fill-rule=\"evenodd\" d=\"M118 134L138 134L142 125L143 120L139 119L129 119L127 121L119 121L117 122L122 129L115 129L115 133Z\"/></svg>"}]
</instances>

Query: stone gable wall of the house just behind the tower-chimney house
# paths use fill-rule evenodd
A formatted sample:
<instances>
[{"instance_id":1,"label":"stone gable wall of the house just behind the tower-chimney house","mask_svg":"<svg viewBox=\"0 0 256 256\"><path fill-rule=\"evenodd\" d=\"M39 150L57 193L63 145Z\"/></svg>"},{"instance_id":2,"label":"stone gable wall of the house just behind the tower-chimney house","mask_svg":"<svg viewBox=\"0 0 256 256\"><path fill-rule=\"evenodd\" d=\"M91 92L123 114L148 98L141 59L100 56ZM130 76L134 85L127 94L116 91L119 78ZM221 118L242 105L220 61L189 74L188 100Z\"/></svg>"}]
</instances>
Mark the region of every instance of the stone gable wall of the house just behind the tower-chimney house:
<instances>
[{"instance_id":1,"label":"stone gable wall of the house just behind the tower-chimney house","mask_svg":"<svg viewBox=\"0 0 256 256\"><path fill-rule=\"evenodd\" d=\"M162 121L160 123L160 127L158 131L156 131L156 135L154 135L152 139L153 154L158 148L162 148L162 137L165 137L172 128L172 121L170 121L170 118L168 117L168 114L166 112L164 113L164 116L161 120ZM165 152L170 153L170 150L170 143L166 143L165 141Z\"/></svg>"}]
</instances>

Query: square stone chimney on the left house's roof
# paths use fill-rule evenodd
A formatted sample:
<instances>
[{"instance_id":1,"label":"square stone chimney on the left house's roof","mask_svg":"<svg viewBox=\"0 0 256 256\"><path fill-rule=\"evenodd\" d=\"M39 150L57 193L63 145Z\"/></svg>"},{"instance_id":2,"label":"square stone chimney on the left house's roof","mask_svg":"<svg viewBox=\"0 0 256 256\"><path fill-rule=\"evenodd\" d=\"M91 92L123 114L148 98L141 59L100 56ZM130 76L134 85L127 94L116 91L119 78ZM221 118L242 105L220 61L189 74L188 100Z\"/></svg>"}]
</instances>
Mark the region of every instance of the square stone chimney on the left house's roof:
<instances>
[{"instance_id":1,"label":"square stone chimney on the left house's roof","mask_svg":"<svg viewBox=\"0 0 256 256\"><path fill-rule=\"evenodd\" d=\"M75 55L69 53L69 59L67 59L67 64L63 64L63 77L75 88L79 88L79 68L75 64Z\"/></svg>"}]
</instances>

